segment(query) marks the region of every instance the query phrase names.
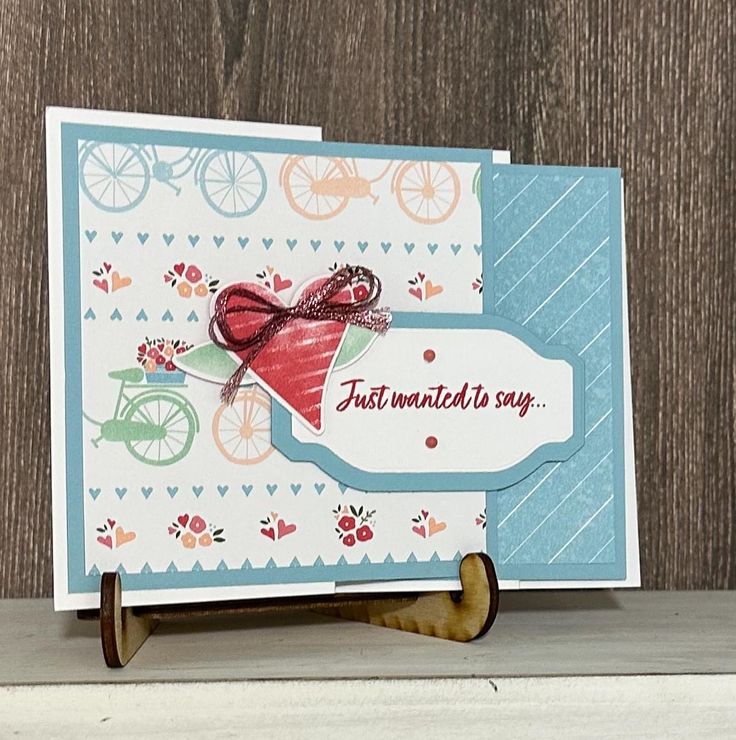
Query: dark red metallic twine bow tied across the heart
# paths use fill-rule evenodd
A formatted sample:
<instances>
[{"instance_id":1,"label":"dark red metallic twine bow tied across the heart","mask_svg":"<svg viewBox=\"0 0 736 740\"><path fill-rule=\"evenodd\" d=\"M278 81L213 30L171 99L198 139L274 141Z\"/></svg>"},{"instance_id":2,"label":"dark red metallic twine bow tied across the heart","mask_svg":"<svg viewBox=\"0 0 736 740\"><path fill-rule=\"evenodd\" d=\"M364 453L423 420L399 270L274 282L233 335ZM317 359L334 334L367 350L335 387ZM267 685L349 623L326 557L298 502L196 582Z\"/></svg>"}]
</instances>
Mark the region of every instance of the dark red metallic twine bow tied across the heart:
<instances>
[{"instance_id":1,"label":"dark red metallic twine bow tied across the heart","mask_svg":"<svg viewBox=\"0 0 736 740\"><path fill-rule=\"evenodd\" d=\"M364 298L353 298L349 302L338 302L334 298L348 285L364 284ZM254 305L228 305L232 297L245 298ZM391 312L387 308L376 308L381 297L381 281L367 267L346 266L314 291L304 293L294 306L274 303L270 298L256 293L245 285L232 285L222 290L215 299L215 308L210 319L210 339L218 347L230 352L247 352L240 367L230 376L222 388L220 398L232 404L243 380L258 353L290 321L342 321L384 334L391 324ZM270 314L257 331L246 337L237 337L228 325L228 318L242 313ZM217 332L219 331L219 336ZM222 337L222 338L220 338Z\"/></svg>"}]
</instances>

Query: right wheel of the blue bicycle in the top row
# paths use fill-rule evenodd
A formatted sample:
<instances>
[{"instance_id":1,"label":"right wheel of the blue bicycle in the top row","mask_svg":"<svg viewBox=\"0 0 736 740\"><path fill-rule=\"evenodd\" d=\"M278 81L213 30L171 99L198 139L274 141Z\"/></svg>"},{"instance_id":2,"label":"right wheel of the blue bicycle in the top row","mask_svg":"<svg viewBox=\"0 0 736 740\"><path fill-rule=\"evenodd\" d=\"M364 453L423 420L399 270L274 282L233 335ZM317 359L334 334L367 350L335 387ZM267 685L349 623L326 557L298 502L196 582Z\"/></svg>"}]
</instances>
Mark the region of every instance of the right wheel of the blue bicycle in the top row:
<instances>
[{"instance_id":1,"label":"right wheel of the blue bicycle in the top row","mask_svg":"<svg viewBox=\"0 0 736 740\"><path fill-rule=\"evenodd\" d=\"M205 201L221 216L249 216L266 197L266 173L247 152L212 151L199 169Z\"/></svg>"}]
</instances>

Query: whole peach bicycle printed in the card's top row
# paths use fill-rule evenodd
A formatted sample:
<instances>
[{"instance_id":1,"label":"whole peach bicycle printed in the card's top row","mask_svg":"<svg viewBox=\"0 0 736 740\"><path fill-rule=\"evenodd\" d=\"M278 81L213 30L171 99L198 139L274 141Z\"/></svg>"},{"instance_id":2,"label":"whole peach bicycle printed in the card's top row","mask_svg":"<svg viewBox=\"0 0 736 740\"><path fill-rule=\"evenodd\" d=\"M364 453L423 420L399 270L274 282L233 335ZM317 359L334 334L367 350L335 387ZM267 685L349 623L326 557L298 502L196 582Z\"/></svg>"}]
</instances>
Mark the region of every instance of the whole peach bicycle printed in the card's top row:
<instances>
[{"instance_id":1,"label":"whole peach bicycle printed in the card's top row","mask_svg":"<svg viewBox=\"0 0 736 740\"><path fill-rule=\"evenodd\" d=\"M281 167L279 184L297 213L324 221L342 213L351 198L368 197L377 203L371 186L393 166L389 162L377 177L368 179L361 176L355 159L293 155ZM391 179L391 192L412 220L441 223L460 200L460 178L447 162L400 162Z\"/></svg>"}]
</instances>

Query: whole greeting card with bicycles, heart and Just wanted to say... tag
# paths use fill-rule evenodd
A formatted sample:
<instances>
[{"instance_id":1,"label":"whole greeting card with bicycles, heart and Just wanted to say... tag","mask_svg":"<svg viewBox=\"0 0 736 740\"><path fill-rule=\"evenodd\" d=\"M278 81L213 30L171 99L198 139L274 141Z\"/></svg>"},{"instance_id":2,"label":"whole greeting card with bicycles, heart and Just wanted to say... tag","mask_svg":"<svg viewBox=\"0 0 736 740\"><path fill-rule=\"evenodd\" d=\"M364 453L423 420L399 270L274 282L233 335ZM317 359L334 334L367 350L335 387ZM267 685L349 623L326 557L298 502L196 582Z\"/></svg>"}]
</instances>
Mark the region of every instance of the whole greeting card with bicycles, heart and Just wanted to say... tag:
<instances>
[{"instance_id":1,"label":"whole greeting card with bicycles, heart and Just wanted to say... tag","mask_svg":"<svg viewBox=\"0 0 736 740\"><path fill-rule=\"evenodd\" d=\"M617 173L47 120L58 607L625 581Z\"/></svg>"}]
</instances>

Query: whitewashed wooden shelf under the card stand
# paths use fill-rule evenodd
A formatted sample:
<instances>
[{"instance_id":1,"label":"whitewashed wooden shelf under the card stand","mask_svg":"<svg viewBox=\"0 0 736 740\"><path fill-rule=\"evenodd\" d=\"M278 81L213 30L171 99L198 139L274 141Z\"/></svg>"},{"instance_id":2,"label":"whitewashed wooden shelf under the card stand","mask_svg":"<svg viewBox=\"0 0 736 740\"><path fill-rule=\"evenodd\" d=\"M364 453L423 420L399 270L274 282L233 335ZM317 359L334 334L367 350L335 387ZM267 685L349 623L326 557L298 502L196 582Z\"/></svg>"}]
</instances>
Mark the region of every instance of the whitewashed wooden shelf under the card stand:
<instances>
[{"instance_id":1,"label":"whitewashed wooden shelf under the card stand","mask_svg":"<svg viewBox=\"0 0 736 740\"><path fill-rule=\"evenodd\" d=\"M504 594L470 644L308 614L166 624L118 671L96 628L0 602L0 737L736 737L736 592Z\"/></svg>"}]
</instances>

